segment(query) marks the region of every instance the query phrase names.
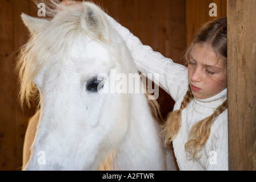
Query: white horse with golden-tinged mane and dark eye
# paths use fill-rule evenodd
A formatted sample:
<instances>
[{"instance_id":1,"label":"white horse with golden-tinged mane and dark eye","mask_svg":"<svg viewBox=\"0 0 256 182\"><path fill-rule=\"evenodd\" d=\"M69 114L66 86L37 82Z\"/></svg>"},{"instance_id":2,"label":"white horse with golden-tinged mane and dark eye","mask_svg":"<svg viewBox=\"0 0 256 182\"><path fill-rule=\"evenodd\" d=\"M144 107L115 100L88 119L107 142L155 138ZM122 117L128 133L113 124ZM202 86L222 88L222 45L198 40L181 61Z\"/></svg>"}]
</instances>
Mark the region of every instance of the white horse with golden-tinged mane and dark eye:
<instances>
[{"instance_id":1,"label":"white horse with golden-tinged mane and dark eye","mask_svg":"<svg viewBox=\"0 0 256 182\"><path fill-rule=\"evenodd\" d=\"M107 90L118 73L138 71L98 6L22 19L31 38L19 59L21 100L37 89L40 96L26 132L25 170L176 169L145 94Z\"/></svg>"}]
</instances>

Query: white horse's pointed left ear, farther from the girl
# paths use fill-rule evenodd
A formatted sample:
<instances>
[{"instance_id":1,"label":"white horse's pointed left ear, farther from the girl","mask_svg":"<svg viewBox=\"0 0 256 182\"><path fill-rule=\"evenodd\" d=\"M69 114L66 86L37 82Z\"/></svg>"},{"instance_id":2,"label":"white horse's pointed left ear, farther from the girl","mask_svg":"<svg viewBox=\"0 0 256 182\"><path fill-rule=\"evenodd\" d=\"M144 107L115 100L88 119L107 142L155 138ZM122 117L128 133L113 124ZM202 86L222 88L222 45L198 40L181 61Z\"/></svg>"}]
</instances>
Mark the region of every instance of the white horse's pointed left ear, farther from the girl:
<instances>
[{"instance_id":1,"label":"white horse's pointed left ear, farther from the girl","mask_svg":"<svg viewBox=\"0 0 256 182\"><path fill-rule=\"evenodd\" d=\"M34 18L24 13L22 13L21 19L23 20L25 26L29 28L31 34L37 34L38 32L42 31L42 28L44 28L46 24L49 23L49 21L46 19Z\"/></svg>"}]
</instances>

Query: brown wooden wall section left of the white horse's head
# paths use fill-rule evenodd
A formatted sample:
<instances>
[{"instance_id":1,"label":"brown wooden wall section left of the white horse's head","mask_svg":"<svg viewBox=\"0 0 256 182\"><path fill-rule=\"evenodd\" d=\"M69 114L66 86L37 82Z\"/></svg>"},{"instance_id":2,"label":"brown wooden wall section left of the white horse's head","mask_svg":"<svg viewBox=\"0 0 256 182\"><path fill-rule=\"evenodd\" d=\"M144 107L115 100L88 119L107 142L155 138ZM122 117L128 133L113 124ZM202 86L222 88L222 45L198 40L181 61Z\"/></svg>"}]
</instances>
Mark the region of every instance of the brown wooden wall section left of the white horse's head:
<instances>
[{"instance_id":1,"label":"brown wooden wall section left of the white horse's head","mask_svg":"<svg viewBox=\"0 0 256 182\"><path fill-rule=\"evenodd\" d=\"M18 49L27 41L22 12L33 14L28 0L0 1L0 169L18 170L30 110L17 102L18 82L15 62Z\"/></svg>"}]
</instances>

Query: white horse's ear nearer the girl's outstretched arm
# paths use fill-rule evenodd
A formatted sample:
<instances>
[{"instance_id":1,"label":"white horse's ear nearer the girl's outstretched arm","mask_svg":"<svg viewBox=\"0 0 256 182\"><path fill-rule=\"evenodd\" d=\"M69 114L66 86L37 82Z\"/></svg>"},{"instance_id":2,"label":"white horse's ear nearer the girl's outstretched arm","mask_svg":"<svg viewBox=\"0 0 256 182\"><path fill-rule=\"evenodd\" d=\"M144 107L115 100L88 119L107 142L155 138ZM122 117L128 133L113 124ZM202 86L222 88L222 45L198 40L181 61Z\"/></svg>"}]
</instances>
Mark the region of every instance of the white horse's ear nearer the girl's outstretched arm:
<instances>
[{"instance_id":1,"label":"white horse's ear nearer the girl's outstretched arm","mask_svg":"<svg viewBox=\"0 0 256 182\"><path fill-rule=\"evenodd\" d=\"M109 24L106 16L94 3L83 2L81 26L95 37L109 39Z\"/></svg>"}]
</instances>

